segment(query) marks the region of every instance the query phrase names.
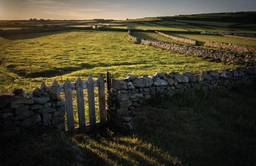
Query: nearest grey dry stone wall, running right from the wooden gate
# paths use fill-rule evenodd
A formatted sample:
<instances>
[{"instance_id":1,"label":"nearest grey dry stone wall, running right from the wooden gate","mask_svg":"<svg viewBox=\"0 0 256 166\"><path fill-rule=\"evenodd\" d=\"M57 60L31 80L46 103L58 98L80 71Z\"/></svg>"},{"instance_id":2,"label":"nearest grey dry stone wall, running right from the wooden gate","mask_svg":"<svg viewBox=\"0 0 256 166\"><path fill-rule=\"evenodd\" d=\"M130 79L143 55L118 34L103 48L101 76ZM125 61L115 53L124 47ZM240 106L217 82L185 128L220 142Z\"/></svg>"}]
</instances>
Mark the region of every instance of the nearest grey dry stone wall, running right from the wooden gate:
<instances>
[{"instance_id":1,"label":"nearest grey dry stone wall, running right from the wooden gate","mask_svg":"<svg viewBox=\"0 0 256 166\"><path fill-rule=\"evenodd\" d=\"M128 74L124 79L113 79L107 95L107 123L121 132L136 128L134 118L140 103L156 94L173 96L181 90L231 89L235 86L256 84L256 68L209 70L198 73L161 72L154 76L136 77Z\"/></svg>"}]
</instances>

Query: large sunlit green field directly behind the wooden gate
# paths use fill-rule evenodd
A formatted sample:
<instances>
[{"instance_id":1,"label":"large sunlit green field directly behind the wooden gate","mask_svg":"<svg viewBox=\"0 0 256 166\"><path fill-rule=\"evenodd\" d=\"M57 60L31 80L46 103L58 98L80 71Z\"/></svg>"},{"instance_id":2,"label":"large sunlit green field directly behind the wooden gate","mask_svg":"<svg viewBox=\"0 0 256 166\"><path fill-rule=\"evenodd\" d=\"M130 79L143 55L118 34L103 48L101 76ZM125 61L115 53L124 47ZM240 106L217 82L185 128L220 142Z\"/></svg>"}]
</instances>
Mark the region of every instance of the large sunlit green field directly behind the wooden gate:
<instances>
[{"instance_id":1,"label":"large sunlit green field directly behind the wooden gate","mask_svg":"<svg viewBox=\"0 0 256 166\"><path fill-rule=\"evenodd\" d=\"M156 34L158 35L158 34ZM159 37L164 38L159 35ZM168 38L167 38L168 39ZM43 80L50 85L61 81L55 70L64 70L63 79L94 78L109 70L115 78L127 74L154 74L159 71L201 71L233 67L201 58L133 44L126 32L60 31L0 38L0 89L29 91ZM54 50L54 51L53 51ZM29 65L32 65L32 73ZM40 68L44 67L44 68Z\"/></svg>"}]
</instances>

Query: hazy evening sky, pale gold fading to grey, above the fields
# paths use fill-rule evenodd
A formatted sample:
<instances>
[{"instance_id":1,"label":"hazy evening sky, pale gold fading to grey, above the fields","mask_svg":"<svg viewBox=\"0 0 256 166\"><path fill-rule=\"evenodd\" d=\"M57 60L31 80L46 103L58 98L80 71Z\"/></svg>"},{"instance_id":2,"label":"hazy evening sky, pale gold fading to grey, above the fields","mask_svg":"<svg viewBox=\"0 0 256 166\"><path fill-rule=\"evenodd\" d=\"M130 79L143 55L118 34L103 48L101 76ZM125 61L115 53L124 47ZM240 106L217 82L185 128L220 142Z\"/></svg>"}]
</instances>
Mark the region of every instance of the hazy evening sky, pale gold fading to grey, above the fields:
<instances>
[{"instance_id":1,"label":"hazy evening sky, pale gold fading to grey, above the fields","mask_svg":"<svg viewBox=\"0 0 256 166\"><path fill-rule=\"evenodd\" d=\"M255 10L256 0L0 0L0 20L119 20Z\"/></svg>"}]
</instances>

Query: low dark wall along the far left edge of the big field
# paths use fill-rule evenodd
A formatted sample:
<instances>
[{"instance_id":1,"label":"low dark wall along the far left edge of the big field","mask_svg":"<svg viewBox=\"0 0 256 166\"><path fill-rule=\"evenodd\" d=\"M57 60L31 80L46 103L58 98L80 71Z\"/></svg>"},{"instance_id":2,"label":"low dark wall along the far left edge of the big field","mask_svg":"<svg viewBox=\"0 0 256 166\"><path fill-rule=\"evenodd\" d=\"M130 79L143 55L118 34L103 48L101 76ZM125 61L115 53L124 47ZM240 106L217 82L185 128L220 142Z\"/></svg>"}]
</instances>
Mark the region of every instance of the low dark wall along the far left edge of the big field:
<instances>
[{"instance_id":1,"label":"low dark wall along the far left edge of the big field","mask_svg":"<svg viewBox=\"0 0 256 166\"><path fill-rule=\"evenodd\" d=\"M20 29L20 30L0 30L0 36L12 35L12 34L26 34L26 33L61 31L61 30L66 30L66 29L69 29L69 27L34 28L34 29Z\"/></svg>"}]
</instances>

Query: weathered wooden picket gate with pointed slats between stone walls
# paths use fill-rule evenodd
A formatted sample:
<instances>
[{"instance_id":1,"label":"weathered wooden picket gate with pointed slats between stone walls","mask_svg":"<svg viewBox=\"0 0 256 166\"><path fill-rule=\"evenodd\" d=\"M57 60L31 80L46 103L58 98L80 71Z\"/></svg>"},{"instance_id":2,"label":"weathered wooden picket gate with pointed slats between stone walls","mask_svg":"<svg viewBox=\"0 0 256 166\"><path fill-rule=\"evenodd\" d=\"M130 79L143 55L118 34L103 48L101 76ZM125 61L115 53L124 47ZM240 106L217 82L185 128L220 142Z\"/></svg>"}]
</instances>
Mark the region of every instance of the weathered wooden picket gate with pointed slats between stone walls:
<instances>
[{"instance_id":1,"label":"weathered wooden picket gate with pointed slats between stone walls","mask_svg":"<svg viewBox=\"0 0 256 166\"><path fill-rule=\"evenodd\" d=\"M80 77L76 82L71 83L66 79L64 84L59 85L54 80L52 86L45 86L42 82L41 89L53 87L57 93L64 92L66 100L66 113L67 113L67 131L69 135L82 134L89 131L99 129L106 123L106 104L105 104L105 86L102 74L99 75L97 80L93 80L89 75L87 81L82 81ZM96 122L95 114L95 100L94 88L98 87L99 93L99 115L100 121ZM84 89L88 91L88 105L89 105L89 123L86 125L85 119L85 106L84 106ZM78 123L79 127L74 127L74 114L73 114L73 101L72 91L76 91L77 109L78 109Z\"/></svg>"}]
</instances>

